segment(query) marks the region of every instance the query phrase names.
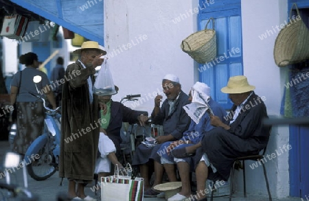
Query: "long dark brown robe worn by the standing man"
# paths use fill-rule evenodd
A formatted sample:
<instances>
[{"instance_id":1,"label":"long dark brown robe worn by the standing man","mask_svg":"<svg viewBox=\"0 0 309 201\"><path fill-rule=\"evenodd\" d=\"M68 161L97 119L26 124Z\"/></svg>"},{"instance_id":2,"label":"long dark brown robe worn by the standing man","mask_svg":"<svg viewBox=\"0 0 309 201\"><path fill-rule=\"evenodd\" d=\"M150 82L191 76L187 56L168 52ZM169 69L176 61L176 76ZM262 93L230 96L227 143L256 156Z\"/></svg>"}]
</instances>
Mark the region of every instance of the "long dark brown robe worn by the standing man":
<instances>
[{"instance_id":1,"label":"long dark brown robe worn by the standing man","mask_svg":"<svg viewBox=\"0 0 309 201\"><path fill-rule=\"evenodd\" d=\"M87 79L95 70L79 61L69 64L62 88L62 119L59 176L74 180L93 180L100 132L98 97L89 101Z\"/></svg>"}]
</instances>

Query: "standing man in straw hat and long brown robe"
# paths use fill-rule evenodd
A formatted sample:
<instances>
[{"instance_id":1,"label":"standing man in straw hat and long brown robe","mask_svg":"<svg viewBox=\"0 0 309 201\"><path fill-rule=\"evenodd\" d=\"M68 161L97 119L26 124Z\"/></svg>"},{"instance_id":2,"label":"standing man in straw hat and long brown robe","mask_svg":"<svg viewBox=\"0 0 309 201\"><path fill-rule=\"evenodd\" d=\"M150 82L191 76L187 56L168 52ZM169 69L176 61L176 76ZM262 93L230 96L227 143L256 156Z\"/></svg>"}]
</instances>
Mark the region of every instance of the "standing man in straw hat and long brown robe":
<instances>
[{"instance_id":1,"label":"standing man in straw hat and long brown robe","mask_svg":"<svg viewBox=\"0 0 309 201\"><path fill-rule=\"evenodd\" d=\"M98 152L99 104L92 86L95 67L102 64L106 51L97 42L87 41L74 53L80 59L67 67L69 79L62 88L59 176L69 180L69 197L95 200L85 195L84 186L93 181Z\"/></svg>"}]
</instances>

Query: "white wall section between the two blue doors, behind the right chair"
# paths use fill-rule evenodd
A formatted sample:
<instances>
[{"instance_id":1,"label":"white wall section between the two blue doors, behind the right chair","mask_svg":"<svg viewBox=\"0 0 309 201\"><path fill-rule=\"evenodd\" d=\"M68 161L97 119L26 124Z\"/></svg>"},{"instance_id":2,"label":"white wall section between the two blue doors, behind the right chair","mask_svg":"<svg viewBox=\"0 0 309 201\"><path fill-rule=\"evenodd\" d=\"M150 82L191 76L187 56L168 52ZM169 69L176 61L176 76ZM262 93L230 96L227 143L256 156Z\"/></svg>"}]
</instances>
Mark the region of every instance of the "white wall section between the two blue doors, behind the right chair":
<instances>
[{"instance_id":1,"label":"white wall section between the two blue doors, behind the right chair","mask_svg":"<svg viewBox=\"0 0 309 201\"><path fill-rule=\"evenodd\" d=\"M286 21L288 4L286 0L243 0L241 6L244 75L251 84L256 86L255 92L266 97L268 114L273 118L278 117L284 89L285 69L277 67L273 58L275 38L279 34L279 31L273 28ZM259 37L262 34L267 35L263 40ZM288 152L281 155L276 152L283 145L288 145L288 136L288 127L274 126L266 152L276 154L273 160L266 163L266 169L272 196L277 198L283 198L289 194ZM247 191L266 195L262 167L251 169L249 164L252 163L247 164ZM242 191L242 176L237 177L237 189Z\"/></svg>"}]
</instances>

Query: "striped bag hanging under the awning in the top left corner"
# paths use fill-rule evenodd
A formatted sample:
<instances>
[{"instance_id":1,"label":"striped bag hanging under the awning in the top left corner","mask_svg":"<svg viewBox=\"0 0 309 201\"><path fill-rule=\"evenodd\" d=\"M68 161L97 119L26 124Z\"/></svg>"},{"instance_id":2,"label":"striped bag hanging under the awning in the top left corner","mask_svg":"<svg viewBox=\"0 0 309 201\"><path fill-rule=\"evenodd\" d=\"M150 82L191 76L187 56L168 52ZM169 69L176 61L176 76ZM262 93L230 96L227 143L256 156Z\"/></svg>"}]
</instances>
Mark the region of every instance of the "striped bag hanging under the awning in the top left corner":
<instances>
[{"instance_id":1,"label":"striped bag hanging under the awning in the top left corner","mask_svg":"<svg viewBox=\"0 0 309 201\"><path fill-rule=\"evenodd\" d=\"M5 16L0 36L10 39L19 39L24 36L27 29L28 19L20 14Z\"/></svg>"}]
</instances>

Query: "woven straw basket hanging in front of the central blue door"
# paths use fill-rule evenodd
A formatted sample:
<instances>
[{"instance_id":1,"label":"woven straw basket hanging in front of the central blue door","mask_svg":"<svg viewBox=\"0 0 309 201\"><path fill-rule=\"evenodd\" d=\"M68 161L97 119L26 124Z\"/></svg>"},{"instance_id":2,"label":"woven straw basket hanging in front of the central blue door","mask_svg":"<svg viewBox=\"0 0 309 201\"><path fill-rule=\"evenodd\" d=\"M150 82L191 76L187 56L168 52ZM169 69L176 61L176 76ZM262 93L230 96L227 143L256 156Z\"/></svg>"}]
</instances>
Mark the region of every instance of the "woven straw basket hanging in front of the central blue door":
<instances>
[{"instance_id":1,"label":"woven straw basket hanging in front of the central blue door","mask_svg":"<svg viewBox=\"0 0 309 201\"><path fill-rule=\"evenodd\" d=\"M212 29L207 29L212 20ZM207 21L205 29L187 36L181 43L181 49L189 54L196 62L205 64L217 56L217 38L214 30L214 19Z\"/></svg>"}]
</instances>

